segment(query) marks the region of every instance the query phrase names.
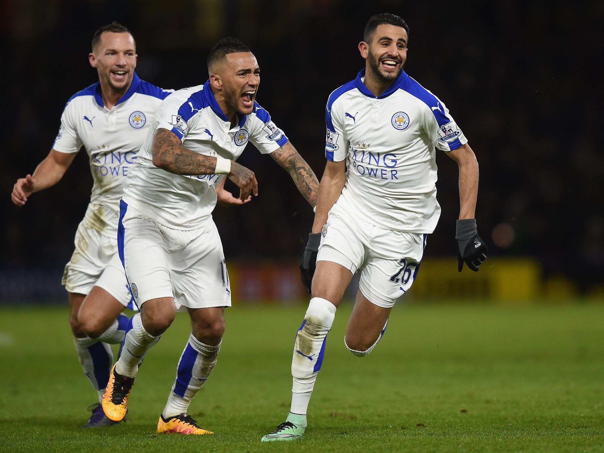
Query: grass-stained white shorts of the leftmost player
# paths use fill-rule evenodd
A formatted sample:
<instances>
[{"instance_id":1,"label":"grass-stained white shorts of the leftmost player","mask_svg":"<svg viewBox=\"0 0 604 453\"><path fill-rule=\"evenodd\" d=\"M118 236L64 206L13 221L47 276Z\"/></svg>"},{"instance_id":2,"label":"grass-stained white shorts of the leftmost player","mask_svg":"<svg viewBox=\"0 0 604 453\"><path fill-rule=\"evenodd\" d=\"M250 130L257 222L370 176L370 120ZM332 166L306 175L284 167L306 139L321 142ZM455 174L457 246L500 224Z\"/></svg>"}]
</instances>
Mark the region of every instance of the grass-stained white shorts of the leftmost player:
<instances>
[{"instance_id":1,"label":"grass-stained white shorts of the leftmost player","mask_svg":"<svg viewBox=\"0 0 604 453\"><path fill-rule=\"evenodd\" d=\"M82 220L74 242L76 249L63 273L65 289L88 295L93 286L100 286L124 307L138 310L117 253L117 240L88 228Z\"/></svg>"}]
</instances>

